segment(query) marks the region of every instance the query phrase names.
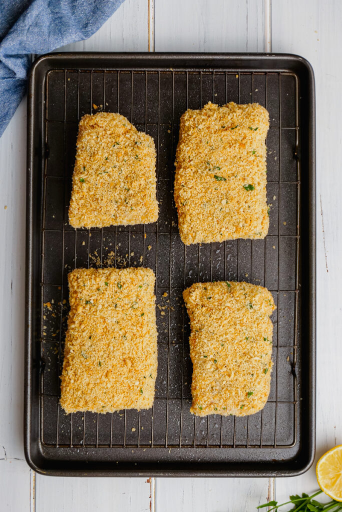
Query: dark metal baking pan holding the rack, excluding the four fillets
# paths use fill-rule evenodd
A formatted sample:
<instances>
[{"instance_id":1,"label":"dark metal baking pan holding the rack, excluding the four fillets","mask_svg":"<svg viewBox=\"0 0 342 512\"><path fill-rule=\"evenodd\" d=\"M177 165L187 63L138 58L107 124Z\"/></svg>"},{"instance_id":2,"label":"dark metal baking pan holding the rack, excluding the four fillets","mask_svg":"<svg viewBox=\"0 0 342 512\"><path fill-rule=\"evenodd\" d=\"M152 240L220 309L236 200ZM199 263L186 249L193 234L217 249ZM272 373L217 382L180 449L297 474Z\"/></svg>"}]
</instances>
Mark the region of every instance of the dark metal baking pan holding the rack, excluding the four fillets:
<instances>
[{"instance_id":1,"label":"dark metal baking pan holding the rack, excluding the four fillets","mask_svg":"<svg viewBox=\"0 0 342 512\"><path fill-rule=\"evenodd\" d=\"M185 247L172 200L180 115L212 101L259 102L267 137L266 240ZM120 112L157 147L155 224L68 224L77 123ZM35 471L97 476L293 476L315 445L315 99L293 55L53 54L32 69L28 98L25 450ZM149 411L65 415L59 374L74 267L156 272L158 378ZM250 417L189 413L189 325L182 290L239 280L272 291L272 387Z\"/></svg>"}]
</instances>

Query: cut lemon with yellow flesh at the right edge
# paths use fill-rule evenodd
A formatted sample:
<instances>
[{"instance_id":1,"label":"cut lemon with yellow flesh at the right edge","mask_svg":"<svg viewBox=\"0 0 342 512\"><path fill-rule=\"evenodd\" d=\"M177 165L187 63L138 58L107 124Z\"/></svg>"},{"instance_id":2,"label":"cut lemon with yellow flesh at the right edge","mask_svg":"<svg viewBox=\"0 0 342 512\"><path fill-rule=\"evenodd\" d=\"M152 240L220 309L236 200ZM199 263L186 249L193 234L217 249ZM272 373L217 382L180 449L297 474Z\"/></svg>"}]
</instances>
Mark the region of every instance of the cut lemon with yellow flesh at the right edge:
<instances>
[{"instance_id":1,"label":"cut lemon with yellow flesh at the right edge","mask_svg":"<svg viewBox=\"0 0 342 512\"><path fill-rule=\"evenodd\" d=\"M335 446L319 459L316 476L324 493L333 500L342 501L342 444Z\"/></svg>"}]
</instances>

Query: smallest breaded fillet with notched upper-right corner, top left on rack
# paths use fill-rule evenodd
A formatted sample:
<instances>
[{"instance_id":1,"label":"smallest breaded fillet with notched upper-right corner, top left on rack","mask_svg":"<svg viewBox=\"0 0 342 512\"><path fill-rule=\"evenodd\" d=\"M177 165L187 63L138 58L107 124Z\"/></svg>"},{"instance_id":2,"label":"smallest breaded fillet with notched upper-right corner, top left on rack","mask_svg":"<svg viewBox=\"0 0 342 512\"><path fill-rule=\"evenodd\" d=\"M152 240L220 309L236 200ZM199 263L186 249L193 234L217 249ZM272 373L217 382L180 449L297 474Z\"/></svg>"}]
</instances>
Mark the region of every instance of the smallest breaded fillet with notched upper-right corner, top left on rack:
<instances>
[{"instance_id":1,"label":"smallest breaded fillet with notched upper-right corner, top left on rack","mask_svg":"<svg viewBox=\"0 0 342 512\"><path fill-rule=\"evenodd\" d=\"M158 218L152 137L126 117L99 112L79 121L69 222L73 227L148 224Z\"/></svg>"}]
</instances>

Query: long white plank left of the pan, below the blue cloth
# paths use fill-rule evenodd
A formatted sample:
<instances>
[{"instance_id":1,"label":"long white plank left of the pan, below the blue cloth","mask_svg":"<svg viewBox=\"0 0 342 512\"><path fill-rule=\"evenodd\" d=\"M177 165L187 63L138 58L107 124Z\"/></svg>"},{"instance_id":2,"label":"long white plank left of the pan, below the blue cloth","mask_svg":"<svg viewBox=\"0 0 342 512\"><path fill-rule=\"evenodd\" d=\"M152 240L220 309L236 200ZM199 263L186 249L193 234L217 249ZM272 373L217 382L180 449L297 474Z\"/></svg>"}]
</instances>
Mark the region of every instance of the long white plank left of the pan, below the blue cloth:
<instances>
[{"instance_id":1,"label":"long white plank left of the pan, below the blue cloth","mask_svg":"<svg viewBox=\"0 0 342 512\"><path fill-rule=\"evenodd\" d=\"M0 457L24 459L26 100L0 139Z\"/></svg>"}]
</instances>

